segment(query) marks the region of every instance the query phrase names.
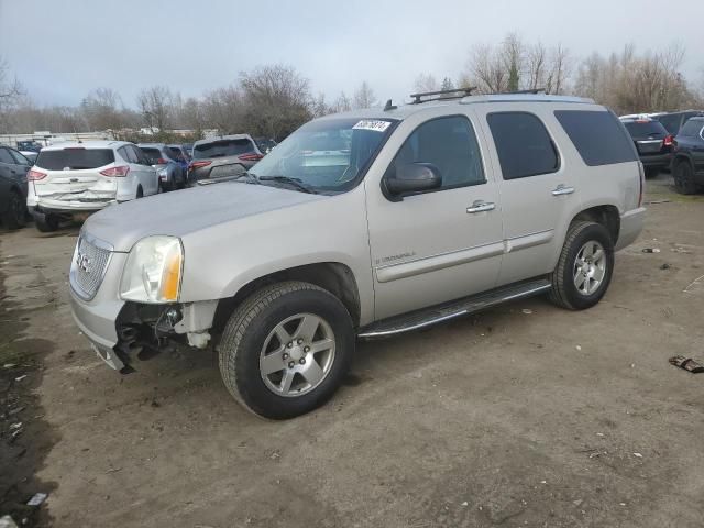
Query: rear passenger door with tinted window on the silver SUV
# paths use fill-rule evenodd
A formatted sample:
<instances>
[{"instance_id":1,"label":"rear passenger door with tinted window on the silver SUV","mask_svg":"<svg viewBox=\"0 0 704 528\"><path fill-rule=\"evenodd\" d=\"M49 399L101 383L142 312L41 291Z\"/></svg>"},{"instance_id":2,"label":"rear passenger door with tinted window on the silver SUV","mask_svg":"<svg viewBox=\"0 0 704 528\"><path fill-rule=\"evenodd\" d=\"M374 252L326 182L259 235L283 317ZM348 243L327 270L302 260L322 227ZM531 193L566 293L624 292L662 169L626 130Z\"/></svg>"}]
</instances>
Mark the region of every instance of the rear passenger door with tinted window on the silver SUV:
<instances>
[{"instance_id":1,"label":"rear passenger door with tinted window on the silver SUV","mask_svg":"<svg viewBox=\"0 0 704 528\"><path fill-rule=\"evenodd\" d=\"M498 285L548 273L562 245L559 228L579 208L576 175L562 163L554 130L548 129L557 128L554 117L544 107L476 107L499 174L507 252Z\"/></svg>"}]
</instances>

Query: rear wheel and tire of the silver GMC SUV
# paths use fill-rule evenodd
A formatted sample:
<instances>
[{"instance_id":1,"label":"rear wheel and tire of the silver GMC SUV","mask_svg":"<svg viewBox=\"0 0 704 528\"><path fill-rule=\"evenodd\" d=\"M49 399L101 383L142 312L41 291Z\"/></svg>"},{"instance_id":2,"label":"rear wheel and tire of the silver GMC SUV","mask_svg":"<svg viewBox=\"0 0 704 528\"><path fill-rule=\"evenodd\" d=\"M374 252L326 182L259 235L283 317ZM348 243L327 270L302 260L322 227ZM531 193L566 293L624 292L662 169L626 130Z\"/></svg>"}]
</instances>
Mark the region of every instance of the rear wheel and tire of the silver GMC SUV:
<instances>
[{"instance_id":1,"label":"rear wheel and tire of the silver GMC SUV","mask_svg":"<svg viewBox=\"0 0 704 528\"><path fill-rule=\"evenodd\" d=\"M598 248L601 248L601 258L594 255L588 256L590 246L596 255L600 254ZM585 255L587 258L584 258ZM550 274L552 288L548 297L553 304L570 310L591 308L604 297L613 273L614 241L608 230L596 222L573 222L568 231L558 265ZM582 284L578 286L580 280Z\"/></svg>"}]
</instances>

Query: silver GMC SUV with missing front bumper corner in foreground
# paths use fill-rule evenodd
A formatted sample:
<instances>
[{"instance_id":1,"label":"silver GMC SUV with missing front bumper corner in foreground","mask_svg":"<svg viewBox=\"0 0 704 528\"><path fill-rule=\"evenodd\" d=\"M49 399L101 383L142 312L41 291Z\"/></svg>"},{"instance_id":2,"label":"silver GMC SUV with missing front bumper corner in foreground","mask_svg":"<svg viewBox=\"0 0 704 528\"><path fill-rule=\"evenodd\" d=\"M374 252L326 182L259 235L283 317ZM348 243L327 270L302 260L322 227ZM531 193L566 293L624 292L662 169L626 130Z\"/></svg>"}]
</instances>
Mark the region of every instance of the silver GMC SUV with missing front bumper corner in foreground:
<instances>
[{"instance_id":1,"label":"silver GMC SUV with missing front bumper corner in foreground","mask_svg":"<svg viewBox=\"0 0 704 528\"><path fill-rule=\"evenodd\" d=\"M586 99L329 116L231 183L90 217L73 311L122 372L164 339L212 339L232 396L289 418L334 393L358 338L537 294L594 306L642 228L642 189L628 133Z\"/></svg>"}]
</instances>

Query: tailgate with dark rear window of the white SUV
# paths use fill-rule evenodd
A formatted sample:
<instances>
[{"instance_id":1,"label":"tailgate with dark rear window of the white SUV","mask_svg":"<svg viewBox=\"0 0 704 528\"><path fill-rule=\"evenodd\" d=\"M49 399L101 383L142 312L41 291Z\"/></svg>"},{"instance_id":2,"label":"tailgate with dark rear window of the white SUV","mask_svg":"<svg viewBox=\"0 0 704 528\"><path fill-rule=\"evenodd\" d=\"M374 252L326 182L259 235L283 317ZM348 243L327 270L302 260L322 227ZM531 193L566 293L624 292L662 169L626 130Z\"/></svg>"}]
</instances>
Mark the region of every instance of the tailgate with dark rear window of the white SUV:
<instances>
[{"instance_id":1,"label":"tailgate with dark rear window of the white SUV","mask_svg":"<svg viewBox=\"0 0 704 528\"><path fill-rule=\"evenodd\" d=\"M46 177L33 182L34 191L40 197L73 200L85 191L109 191L116 189L114 178L100 170L114 164L112 148L86 148L70 146L59 150L42 150L36 158L36 168ZM90 193L81 201L90 201ZM102 201L102 198L97 201Z\"/></svg>"}]
</instances>

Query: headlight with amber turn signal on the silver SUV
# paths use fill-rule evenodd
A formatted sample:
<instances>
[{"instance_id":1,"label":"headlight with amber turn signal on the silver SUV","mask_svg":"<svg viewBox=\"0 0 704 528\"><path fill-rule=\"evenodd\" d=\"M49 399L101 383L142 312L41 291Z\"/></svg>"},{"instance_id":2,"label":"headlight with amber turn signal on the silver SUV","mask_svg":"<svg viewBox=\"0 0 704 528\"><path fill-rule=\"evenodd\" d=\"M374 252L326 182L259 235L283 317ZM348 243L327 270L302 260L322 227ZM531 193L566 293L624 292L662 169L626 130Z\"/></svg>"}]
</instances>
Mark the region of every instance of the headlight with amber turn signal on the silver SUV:
<instances>
[{"instance_id":1,"label":"headlight with amber turn signal on the silver SUV","mask_svg":"<svg viewBox=\"0 0 704 528\"><path fill-rule=\"evenodd\" d=\"M178 300L184 249L175 237L147 237L128 256L120 282L120 297L139 302Z\"/></svg>"}]
</instances>

